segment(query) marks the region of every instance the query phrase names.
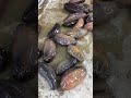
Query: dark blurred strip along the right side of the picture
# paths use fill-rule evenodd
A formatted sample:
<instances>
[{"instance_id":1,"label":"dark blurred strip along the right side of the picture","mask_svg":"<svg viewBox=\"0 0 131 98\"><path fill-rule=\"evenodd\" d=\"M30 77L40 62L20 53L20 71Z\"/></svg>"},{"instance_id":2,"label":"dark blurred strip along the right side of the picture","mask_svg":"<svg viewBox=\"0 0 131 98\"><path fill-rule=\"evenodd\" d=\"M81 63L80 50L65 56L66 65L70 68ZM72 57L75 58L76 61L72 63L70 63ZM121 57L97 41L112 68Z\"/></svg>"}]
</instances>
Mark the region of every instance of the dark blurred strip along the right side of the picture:
<instances>
[{"instance_id":1,"label":"dark blurred strip along the right side of the picture","mask_svg":"<svg viewBox=\"0 0 131 98\"><path fill-rule=\"evenodd\" d=\"M103 2L114 2L119 11L110 8L117 14L108 17L105 13L102 14L104 4L100 10L94 7L96 14L102 16L100 19L94 14L99 23L94 30L94 98L129 98L131 0L103 0ZM103 17L108 20L104 21ZM105 60L108 69L105 69Z\"/></svg>"}]
</instances>

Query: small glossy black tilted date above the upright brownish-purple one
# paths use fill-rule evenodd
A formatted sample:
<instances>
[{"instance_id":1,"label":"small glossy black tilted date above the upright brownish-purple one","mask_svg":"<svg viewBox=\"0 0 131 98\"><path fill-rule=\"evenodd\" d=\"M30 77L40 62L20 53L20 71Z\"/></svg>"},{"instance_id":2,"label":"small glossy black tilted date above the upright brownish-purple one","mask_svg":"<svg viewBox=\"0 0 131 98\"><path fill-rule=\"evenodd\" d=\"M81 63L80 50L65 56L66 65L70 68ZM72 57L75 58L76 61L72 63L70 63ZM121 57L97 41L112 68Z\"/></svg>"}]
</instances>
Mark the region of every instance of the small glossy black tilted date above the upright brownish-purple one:
<instances>
[{"instance_id":1,"label":"small glossy black tilted date above the upright brownish-purple one","mask_svg":"<svg viewBox=\"0 0 131 98\"><path fill-rule=\"evenodd\" d=\"M56 23L53 27L51 28L51 30L48 33L47 37L53 38L56 34L58 34L59 32L60 32L60 25Z\"/></svg>"}]
</instances>

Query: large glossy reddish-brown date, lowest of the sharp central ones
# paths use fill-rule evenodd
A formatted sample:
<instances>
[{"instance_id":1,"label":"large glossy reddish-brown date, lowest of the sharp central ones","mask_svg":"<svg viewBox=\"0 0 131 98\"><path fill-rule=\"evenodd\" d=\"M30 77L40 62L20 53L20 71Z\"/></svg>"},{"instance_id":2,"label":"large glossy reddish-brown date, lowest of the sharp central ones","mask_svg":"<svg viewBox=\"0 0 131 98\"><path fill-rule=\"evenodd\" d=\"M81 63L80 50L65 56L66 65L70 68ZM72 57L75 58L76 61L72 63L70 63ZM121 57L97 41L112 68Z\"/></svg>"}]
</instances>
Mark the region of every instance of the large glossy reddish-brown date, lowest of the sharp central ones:
<instances>
[{"instance_id":1,"label":"large glossy reddish-brown date, lowest of the sharp central ones","mask_svg":"<svg viewBox=\"0 0 131 98\"><path fill-rule=\"evenodd\" d=\"M71 90L76 87L86 76L85 68L75 68L66 72L62 76L60 86L63 90Z\"/></svg>"}]
</instances>

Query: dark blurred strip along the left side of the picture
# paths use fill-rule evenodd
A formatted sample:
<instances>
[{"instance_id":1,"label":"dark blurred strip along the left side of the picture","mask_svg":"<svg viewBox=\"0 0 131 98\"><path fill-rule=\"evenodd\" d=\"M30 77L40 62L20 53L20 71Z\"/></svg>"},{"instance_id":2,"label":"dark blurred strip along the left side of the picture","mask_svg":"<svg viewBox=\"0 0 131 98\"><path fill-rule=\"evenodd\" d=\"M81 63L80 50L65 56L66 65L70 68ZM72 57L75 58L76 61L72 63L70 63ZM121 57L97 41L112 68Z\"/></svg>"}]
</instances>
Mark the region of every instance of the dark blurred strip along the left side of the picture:
<instances>
[{"instance_id":1,"label":"dark blurred strip along the left side of the picture","mask_svg":"<svg viewBox=\"0 0 131 98\"><path fill-rule=\"evenodd\" d=\"M0 98L38 98L35 1L0 0Z\"/></svg>"}]
</instances>

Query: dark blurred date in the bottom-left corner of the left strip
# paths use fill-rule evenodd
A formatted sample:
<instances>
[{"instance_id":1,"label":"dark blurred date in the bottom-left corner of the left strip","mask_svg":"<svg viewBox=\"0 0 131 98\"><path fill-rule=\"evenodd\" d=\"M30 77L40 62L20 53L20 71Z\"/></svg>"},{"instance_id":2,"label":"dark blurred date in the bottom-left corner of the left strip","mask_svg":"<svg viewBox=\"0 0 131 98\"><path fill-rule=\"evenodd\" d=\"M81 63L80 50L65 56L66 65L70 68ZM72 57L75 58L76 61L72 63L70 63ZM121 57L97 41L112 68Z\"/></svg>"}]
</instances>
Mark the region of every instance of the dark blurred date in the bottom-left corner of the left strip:
<instances>
[{"instance_id":1,"label":"dark blurred date in the bottom-left corner of the left strip","mask_svg":"<svg viewBox=\"0 0 131 98\"><path fill-rule=\"evenodd\" d=\"M14 84L0 81L0 98L25 98L23 91Z\"/></svg>"}]
</instances>

